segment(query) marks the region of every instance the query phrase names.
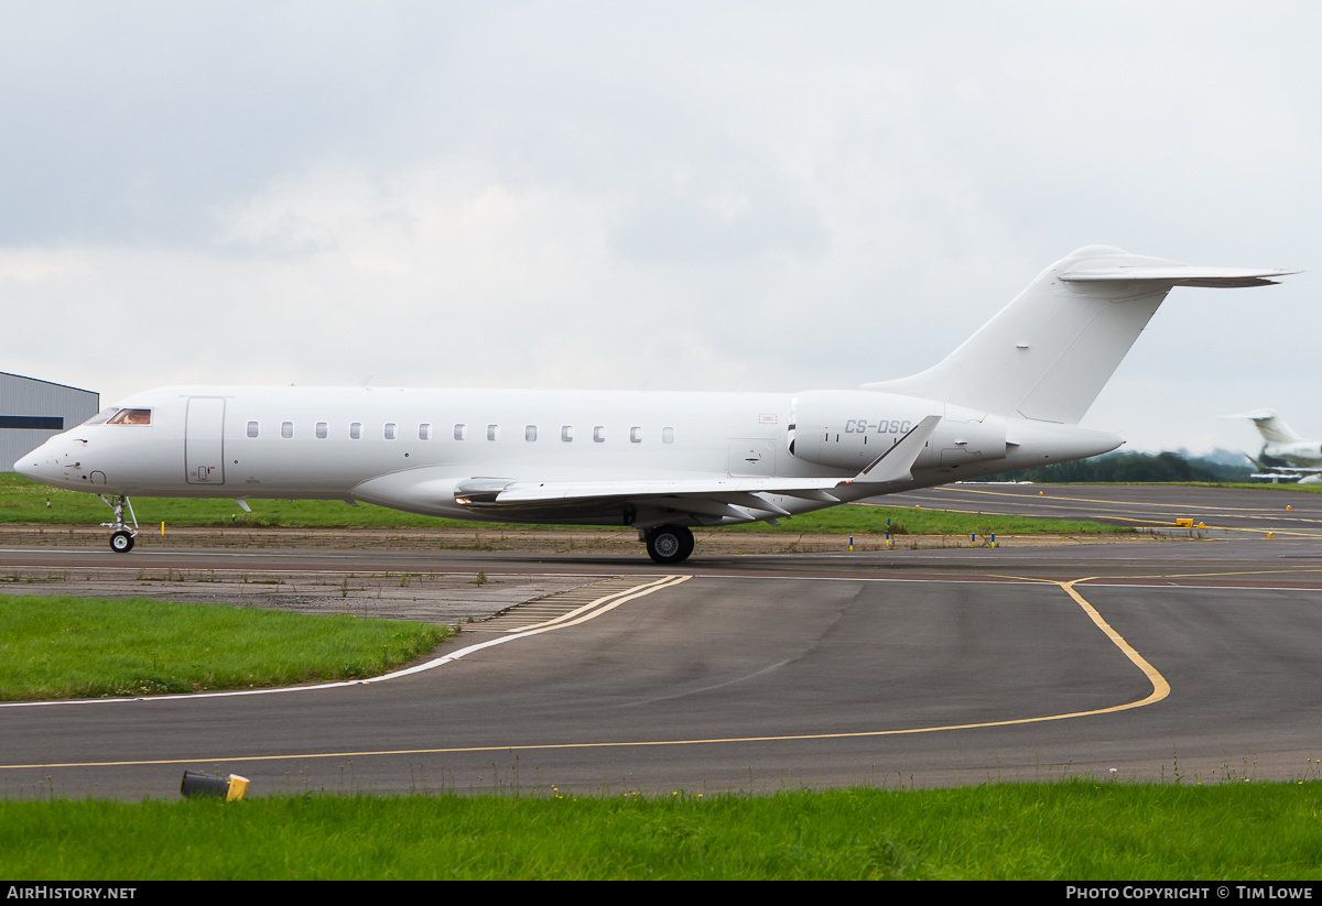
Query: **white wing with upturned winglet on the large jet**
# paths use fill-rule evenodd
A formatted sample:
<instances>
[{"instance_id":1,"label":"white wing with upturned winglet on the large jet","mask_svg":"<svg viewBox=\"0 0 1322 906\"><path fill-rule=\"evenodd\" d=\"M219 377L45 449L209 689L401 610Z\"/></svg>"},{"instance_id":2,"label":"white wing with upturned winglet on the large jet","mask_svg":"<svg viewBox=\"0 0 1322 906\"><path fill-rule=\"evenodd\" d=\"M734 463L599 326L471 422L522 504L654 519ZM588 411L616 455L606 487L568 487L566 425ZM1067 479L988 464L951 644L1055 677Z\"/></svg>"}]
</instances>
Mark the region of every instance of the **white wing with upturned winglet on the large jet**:
<instances>
[{"instance_id":1,"label":"white wing with upturned winglet on the large jet","mask_svg":"<svg viewBox=\"0 0 1322 906\"><path fill-rule=\"evenodd\" d=\"M502 511L535 516L546 512L590 514L621 505L635 508L687 512L695 516L775 519L791 511L773 498L791 497L826 505L884 493L887 485L908 481L940 416L920 421L888 450L853 478L680 478L637 481L518 481L469 478L455 487L455 502L467 510L492 515ZM842 490L846 486L863 486Z\"/></svg>"}]
</instances>

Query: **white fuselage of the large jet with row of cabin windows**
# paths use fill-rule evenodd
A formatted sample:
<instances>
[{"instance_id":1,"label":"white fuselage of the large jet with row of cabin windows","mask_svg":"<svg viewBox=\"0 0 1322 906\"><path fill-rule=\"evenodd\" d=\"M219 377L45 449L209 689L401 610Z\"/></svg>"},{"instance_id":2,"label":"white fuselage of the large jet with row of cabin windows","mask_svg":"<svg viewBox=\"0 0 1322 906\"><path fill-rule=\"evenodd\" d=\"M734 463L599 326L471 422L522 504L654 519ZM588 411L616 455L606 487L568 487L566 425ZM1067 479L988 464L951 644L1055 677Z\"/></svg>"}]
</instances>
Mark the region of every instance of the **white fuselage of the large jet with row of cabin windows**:
<instances>
[{"instance_id":1,"label":"white fuselage of the large jet with row of cabin windows","mask_svg":"<svg viewBox=\"0 0 1322 906\"><path fill-rule=\"evenodd\" d=\"M124 412L139 415L116 416ZM632 524L640 515L661 516L611 499L486 510L460 502L460 490L475 479L847 481L933 415L940 423L911 478L884 491L1095 456L1120 444L1077 425L874 391L171 387L123 400L16 468L58 487L107 495L344 499L459 519ZM858 489L865 490L883 489ZM765 494L788 512L838 502ZM732 524L771 515L668 518Z\"/></svg>"}]
</instances>

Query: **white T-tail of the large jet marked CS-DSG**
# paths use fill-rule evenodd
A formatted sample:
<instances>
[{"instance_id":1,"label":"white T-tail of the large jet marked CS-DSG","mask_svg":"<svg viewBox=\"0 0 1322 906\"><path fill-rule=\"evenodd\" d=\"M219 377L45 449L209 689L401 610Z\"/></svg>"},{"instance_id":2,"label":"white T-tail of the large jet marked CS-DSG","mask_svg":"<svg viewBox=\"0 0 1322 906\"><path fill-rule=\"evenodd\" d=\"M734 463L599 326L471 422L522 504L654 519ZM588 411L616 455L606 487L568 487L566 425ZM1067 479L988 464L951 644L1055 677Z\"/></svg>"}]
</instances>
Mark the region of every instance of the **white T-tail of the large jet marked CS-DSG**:
<instances>
[{"instance_id":1,"label":"white T-tail of the large jet marked CS-DSG","mask_svg":"<svg viewBox=\"0 0 1322 906\"><path fill-rule=\"evenodd\" d=\"M1087 246L1043 271L943 362L863 384L1077 424L1173 287L1263 287L1294 271L1191 267Z\"/></svg>"}]
</instances>

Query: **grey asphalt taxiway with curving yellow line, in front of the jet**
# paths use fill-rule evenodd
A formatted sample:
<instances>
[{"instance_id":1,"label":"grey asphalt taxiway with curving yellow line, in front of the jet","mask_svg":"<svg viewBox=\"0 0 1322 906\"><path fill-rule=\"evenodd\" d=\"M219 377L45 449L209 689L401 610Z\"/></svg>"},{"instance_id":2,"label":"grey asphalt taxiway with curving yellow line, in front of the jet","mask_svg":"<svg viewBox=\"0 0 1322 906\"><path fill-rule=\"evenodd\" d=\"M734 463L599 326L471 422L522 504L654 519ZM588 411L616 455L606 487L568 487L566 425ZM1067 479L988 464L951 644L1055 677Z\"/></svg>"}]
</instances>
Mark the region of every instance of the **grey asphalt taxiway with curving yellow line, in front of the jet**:
<instances>
[{"instance_id":1,"label":"grey asphalt taxiway with curving yellow line, in front of the jet","mask_svg":"<svg viewBox=\"0 0 1322 906\"><path fill-rule=\"evenodd\" d=\"M1166 516L1196 503L1149 493L1137 506ZM504 615L383 681L3 705L0 795L173 796L185 769L249 777L250 795L1315 777L1322 510L1300 499L1313 495L1247 494L1244 507L1206 498L1200 522L1225 523L1225 536L701 556L669 569L592 553L144 544L135 567L481 569L492 585L549 585L512 610L493 604ZM1284 530L1265 531L1288 524L1259 519L1272 512L1227 515L1277 499L1297 520ZM1097 518L1104 505L1125 502L1080 508ZM108 575L124 568L116 556L9 548L0 571Z\"/></svg>"}]
</instances>

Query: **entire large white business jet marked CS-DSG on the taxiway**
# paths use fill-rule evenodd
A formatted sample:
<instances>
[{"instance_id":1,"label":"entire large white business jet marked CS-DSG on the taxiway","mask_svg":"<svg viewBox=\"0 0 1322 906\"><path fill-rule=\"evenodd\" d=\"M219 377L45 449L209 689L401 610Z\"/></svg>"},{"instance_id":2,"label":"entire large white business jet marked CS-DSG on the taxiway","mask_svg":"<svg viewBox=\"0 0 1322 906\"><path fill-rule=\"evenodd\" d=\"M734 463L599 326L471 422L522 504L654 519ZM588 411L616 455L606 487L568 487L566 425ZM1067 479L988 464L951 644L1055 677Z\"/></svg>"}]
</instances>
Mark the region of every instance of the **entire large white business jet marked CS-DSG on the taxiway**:
<instances>
[{"instance_id":1,"label":"entire large white business jet marked CS-DSG on the taxiway","mask_svg":"<svg viewBox=\"0 0 1322 906\"><path fill-rule=\"evenodd\" d=\"M878 494L1114 449L1079 420L1173 287L1294 271L1204 268L1088 246L937 366L800 394L168 387L15 469L102 495L366 501L432 516L632 526L657 563L695 526L776 522ZM126 510L128 519L126 520Z\"/></svg>"}]
</instances>

